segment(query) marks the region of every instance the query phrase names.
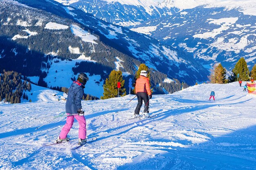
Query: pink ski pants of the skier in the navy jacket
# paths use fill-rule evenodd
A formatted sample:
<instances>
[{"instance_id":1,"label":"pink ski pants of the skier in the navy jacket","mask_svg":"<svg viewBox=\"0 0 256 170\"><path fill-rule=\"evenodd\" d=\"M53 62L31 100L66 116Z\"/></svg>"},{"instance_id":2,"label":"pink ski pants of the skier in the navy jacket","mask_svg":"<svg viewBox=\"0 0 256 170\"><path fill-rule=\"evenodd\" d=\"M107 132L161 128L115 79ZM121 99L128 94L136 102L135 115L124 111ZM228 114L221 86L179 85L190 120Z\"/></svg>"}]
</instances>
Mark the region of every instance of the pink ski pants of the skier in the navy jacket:
<instances>
[{"instance_id":1,"label":"pink ski pants of the skier in the navy jacket","mask_svg":"<svg viewBox=\"0 0 256 170\"><path fill-rule=\"evenodd\" d=\"M67 115L70 115L67 113ZM79 124L79 130L78 130L78 137L80 139L86 138L86 121L84 116L74 115L74 116L67 116L66 124L61 129L60 138L65 139L67 137L68 132L70 132L70 129L72 128L72 125L74 123L74 118L78 121Z\"/></svg>"}]
</instances>

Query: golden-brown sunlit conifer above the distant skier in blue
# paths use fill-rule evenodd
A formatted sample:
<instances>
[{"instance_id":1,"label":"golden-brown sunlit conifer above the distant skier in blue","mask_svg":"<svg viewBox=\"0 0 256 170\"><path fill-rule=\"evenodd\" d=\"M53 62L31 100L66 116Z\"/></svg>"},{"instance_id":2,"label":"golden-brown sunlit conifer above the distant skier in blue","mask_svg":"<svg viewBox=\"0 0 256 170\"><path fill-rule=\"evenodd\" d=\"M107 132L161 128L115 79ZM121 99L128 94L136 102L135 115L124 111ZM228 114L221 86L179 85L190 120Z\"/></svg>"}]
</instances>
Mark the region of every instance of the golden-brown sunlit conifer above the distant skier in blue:
<instances>
[{"instance_id":1,"label":"golden-brown sunlit conifer above the distant skier in blue","mask_svg":"<svg viewBox=\"0 0 256 170\"><path fill-rule=\"evenodd\" d=\"M213 66L213 70L211 70L211 75L209 79L211 83L224 84L226 79L226 69L223 68L221 64L216 64Z\"/></svg>"}]
</instances>

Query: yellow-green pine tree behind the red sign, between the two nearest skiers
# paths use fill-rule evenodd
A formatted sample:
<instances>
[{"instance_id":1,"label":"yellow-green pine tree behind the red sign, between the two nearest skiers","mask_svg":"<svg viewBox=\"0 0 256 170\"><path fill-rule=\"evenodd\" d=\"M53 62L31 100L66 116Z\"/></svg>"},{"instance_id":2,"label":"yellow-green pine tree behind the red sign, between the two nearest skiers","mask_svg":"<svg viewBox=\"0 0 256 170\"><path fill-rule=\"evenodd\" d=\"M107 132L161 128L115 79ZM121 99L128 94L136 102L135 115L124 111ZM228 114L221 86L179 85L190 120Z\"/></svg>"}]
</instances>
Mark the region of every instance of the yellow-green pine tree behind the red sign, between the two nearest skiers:
<instances>
[{"instance_id":1,"label":"yellow-green pine tree behind the red sign, between the two nearest skiers","mask_svg":"<svg viewBox=\"0 0 256 170\"><path fill-rule=\"evenodd\" d=\"M104 93L101 99L109 99L118 96L117 82L121 83L119 88L119 95L126 95L126 88L124 88L124 80L121 71L111 71L109 77L106 79L106 84L103 85Z\"/></svg>"}]
</instances>

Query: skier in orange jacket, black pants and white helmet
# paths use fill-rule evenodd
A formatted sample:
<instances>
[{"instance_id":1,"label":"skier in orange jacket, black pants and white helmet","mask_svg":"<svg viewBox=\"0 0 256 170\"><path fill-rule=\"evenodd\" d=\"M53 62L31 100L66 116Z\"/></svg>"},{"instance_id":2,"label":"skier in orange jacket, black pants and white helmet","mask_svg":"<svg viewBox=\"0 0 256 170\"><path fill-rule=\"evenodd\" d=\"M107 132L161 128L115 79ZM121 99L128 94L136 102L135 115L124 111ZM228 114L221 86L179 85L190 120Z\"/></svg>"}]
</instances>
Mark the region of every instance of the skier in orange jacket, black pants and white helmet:
<instances>
[{"instance_id":1,"label":"skier in orange jacket, black pants and white helmet","mask_svg":"<svg viewBox=\"0 0 256 170\"><path fill-rule=\"evenodd\" d=\"M148 117L148 106L149 106L149 99L152 98L152 94L150 91L150 86L149 86L149 79L147 78L148 72L145 70L142 70L140 72L139 78L136 80L135 84L135 92L138 98L138 104L137 107L134 111L133 117L139 117L139 111L142 106L142 100L144 101L144 113L143 115L145 117Z\"/></svg>"}]
</instances>

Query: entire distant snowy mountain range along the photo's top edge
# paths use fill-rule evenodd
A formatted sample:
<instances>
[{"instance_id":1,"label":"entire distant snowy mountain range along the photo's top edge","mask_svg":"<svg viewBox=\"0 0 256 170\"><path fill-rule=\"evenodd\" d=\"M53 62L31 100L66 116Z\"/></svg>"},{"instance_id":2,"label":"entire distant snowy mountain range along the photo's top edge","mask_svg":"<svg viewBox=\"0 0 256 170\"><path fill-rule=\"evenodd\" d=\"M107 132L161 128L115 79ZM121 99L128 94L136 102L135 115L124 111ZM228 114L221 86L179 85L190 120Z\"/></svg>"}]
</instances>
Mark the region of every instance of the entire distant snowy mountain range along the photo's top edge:
<instances>
[{"instance_id":1,"label":"entire distant snowy mountain range along the photo's top edge","mask_svg":"<svg viewBox=\"0 0 256 170\"><path fill-rule=\"evenodd\" d=\"M146 20L172 15L183 9L192 9L200 5L207 8L238 8L244 14L256 15L256 0L56 0L107 22L133 27Z\"/></svg>"}]
</instances>

